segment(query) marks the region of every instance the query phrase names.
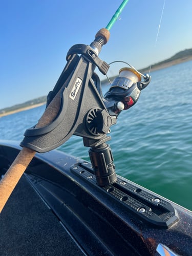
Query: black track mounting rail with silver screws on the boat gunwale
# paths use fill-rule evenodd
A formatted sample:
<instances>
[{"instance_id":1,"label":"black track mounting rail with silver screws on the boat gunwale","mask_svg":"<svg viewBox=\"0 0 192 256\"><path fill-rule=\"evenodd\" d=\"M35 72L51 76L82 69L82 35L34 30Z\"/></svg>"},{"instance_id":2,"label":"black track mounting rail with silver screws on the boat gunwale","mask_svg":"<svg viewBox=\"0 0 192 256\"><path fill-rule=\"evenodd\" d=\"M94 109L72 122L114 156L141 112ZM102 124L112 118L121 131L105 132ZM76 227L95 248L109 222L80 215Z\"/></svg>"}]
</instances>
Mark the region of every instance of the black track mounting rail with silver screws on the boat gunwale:
<instances>
[{"instance_id":1,"label":"black track mounting rail with silver screws on the boat gunwale","mask_svg":"<svg viewBox=\"0 0 192 256\"><path fill-rule=\"evenodd\" d=\"M71 166L71 171L84 181L96 187L114 204L120 204L137 219L159 228L169 228L179 221L177 211L164 198L158 197L149 190L143 190L132 182L117 176L112 185L98 186L94 169L89 162Z\"/></svg>"}]
</instances>

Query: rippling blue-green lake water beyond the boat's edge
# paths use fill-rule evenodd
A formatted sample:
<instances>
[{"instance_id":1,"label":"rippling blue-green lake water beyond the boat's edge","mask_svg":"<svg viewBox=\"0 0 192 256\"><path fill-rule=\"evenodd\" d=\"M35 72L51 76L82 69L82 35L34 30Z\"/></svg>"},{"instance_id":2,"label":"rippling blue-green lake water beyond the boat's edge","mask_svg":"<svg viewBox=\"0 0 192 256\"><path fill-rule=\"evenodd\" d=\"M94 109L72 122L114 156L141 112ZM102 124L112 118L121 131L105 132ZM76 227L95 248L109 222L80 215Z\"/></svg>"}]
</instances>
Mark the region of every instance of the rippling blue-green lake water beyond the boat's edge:
<instances>
[{"instance_id":1,"label":"rippling blue-green lake water beyond the boat's edge","mask_svg":"<svg viewBox=\"0 0 192 256\"><path fill-rule=\"evenodd\" d=\"M111 127L116 171L192 210L192 61L151 75L137 104ZM44 110L40 106L0 118L0 139L22 140ZM89 160L80 137L72 136L59 150Z\"/></svg>"}]
</instances>

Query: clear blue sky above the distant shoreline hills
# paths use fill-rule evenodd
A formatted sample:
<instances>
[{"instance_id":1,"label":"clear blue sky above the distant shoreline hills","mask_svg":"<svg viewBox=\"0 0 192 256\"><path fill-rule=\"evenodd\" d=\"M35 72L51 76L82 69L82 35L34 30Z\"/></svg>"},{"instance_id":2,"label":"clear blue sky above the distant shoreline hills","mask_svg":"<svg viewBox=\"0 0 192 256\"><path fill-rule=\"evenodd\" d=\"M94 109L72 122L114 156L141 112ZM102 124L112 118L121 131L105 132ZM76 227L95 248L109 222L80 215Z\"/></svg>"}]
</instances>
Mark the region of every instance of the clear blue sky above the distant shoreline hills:
<instances>
[{"instance_id":1,"label":"clear blue sky above the distant shoreline hills","mask_svg":"<svg viewBox=\"0 0 192 256\"><path fill-rule=\"evenodd\" d=\"M74 44L89 45L121 0L0 0L0 109L47 95ZM130 0L100 58L144 68L192 48L192 1ZM109 75L121 66L112 65ZM100 75L101 79L105 77Z\"/></svg>"}]
</instances>

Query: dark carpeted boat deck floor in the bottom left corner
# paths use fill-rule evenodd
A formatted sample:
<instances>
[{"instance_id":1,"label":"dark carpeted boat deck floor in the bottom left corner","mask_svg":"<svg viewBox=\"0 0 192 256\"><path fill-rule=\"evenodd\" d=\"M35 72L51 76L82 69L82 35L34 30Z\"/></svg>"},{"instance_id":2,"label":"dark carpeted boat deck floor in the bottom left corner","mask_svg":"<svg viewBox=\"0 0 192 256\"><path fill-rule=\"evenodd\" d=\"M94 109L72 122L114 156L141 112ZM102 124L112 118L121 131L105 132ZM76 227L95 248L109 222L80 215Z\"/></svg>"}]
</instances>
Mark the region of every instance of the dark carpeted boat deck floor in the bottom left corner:
<instances>
[{"instance_id":1,"label":"dark carpeted boat deck floor in the bottom left corner","mask_svg":"<svg viewBox=\"0 0 192 256\"><path fill-rule=\"evenodd\" d=\"M84 255L25 176L1 213L0 255Z\"/></svg>"}]
</instances>

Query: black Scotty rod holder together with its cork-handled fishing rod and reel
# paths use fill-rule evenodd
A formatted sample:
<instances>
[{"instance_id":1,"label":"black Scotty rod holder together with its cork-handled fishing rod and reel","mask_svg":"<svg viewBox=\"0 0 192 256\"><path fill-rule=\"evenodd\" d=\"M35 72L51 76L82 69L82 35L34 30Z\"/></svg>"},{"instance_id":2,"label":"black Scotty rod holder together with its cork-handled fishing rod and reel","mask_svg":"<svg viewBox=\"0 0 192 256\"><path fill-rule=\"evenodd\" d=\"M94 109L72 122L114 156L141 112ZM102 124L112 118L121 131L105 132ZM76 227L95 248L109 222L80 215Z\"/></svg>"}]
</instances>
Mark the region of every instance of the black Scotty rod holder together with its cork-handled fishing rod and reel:
<instances>
[{"instance_id":1,"label":"black Scotty rod holder together with its cork-handled fishing rod and reel","mask_svg":"<svg viewBox=\"0 0 192 256\"><path fill-rule=\"evenodd\" d=\"M74 45L67 53L67 64L53 91L48 94L47 106L38 123L27 129L20 151L0 183L0 212L14 187L36 152L53 150L65 143L73 134L83 138L89 146L90 159L94 166L97 184L104 186L116 181L115 165L110 146L110 126L116 123L122 110L134 105L150 79L141 81L134 70L123 69L102 97L100 80L94 72L98 67L106 74L109 65L98 57L110 37L109 30L128 1L123 1L106 28L97 32L94 41L87 45ZM104 155L104 159L101 160Z\"/></svg>"}]
</instances>

